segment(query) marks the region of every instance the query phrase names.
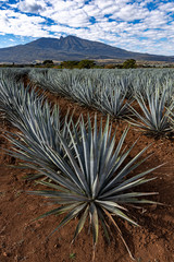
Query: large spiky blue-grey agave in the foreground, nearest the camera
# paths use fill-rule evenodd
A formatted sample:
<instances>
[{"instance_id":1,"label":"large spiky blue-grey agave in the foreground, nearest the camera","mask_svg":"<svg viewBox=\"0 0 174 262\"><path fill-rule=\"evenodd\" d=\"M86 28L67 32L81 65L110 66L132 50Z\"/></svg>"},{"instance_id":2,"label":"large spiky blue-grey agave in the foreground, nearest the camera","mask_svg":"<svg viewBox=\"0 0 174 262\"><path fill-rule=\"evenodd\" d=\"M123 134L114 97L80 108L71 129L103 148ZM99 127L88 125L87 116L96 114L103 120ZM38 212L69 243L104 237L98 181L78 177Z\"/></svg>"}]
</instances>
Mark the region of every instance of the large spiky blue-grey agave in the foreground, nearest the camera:
<instances>
[{"instance_id":1,"label":"large spiky blue-grey agave in the foreground, nearest the camera","mask_svg":"<svg viewBox=\"0 0 174 262\"><path fill-rule=\"evenodd\" d=\"M138 175L132 175L148 157L139 159L147 150L146 147L125 164L124 160L136 144L135 142L129 150L122 150L127 132L128 129L125 129L115 146L115 134L111 134L109 119L104 129L102 128L102 121L98 129L97 117L95 117L94 124L91 124L90 119L85 123L82 117L78 127L73 124L70 129L69 126L71 146L59 133L65 157L62 157L51 147L47 147L49 159L58 166L61 172L58 174L48 165L37 167L41 174L49 178L49 181L39 181L39 183L50 188L50 190L32 191L29 193L49 198L53 205L58 204L58 207L38 218L66 213L54 231L73 218L79 217L73 240L89 218L92 228L94 250L98 242L99 221L108 239L110 235L108 222L110 221L133 259L116 224L116 217L137 226L137 223L127 216L127 206L129 204L154 203L144 199L144 196L156 194L154 192L139 192L135 191L135 188L153 180L154 178L145 178L145 176L157 167Z\"/></svg>"}]
</instances>

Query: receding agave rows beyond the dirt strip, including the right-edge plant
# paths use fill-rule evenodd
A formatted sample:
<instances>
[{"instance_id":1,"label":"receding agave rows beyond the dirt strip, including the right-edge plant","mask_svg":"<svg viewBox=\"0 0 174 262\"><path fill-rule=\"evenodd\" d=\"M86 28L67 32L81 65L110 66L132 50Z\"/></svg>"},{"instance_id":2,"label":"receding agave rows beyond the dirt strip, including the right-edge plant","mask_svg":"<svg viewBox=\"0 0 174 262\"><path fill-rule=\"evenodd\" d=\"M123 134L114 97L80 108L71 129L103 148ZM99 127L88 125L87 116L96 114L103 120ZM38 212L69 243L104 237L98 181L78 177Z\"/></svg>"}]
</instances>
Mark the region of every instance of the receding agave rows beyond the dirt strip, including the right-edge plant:
<instances>
[{"instance_id":1,"label":"receding agave rows beyond the dirt strip, including the right-edge plant","mask_svg":"<svg viewBox=\"0 0 174 262\"><path fill-rule=\"evenodd\" d=\"M44 90L125 118L147 133L174 130L174 70L32 70L28 76Z\"/></svg>"}]
</instances>

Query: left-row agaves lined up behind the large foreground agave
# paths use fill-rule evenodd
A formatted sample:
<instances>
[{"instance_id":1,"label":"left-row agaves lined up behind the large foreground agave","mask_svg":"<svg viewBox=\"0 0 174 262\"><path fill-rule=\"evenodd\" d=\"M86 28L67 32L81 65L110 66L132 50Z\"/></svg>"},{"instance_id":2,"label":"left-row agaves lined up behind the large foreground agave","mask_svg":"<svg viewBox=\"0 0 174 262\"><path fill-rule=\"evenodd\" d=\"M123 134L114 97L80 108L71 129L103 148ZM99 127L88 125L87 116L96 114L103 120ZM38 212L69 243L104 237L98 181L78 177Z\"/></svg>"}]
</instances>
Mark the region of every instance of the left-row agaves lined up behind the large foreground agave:
<instances>
[{"instance_id":1,"label":"left-row agaves lined up behind the large foreground agave","mask_svg":"<svg viewBox=\"0 0 174 262\"><path fill-rule=\"evenodd\" d=\"M73 114L67 110L65 117L61 117L58 105L53 107L45 100L45 96L38 96L35 90L29 86L25 88L23 84L4 81L0 83L0 109L18 130L15 134L5 131L5 136L14 148L14 152L10 151L9 154L25 162L32 160L35 166L38 166L38 163L52 166L52 169L58 171L58 167L47 154L47 147L64 157L58 133L60 132L71 146L67 127L72 123ZM29 176L30 179L34 177Z\"/></svg>"}]
</instances>

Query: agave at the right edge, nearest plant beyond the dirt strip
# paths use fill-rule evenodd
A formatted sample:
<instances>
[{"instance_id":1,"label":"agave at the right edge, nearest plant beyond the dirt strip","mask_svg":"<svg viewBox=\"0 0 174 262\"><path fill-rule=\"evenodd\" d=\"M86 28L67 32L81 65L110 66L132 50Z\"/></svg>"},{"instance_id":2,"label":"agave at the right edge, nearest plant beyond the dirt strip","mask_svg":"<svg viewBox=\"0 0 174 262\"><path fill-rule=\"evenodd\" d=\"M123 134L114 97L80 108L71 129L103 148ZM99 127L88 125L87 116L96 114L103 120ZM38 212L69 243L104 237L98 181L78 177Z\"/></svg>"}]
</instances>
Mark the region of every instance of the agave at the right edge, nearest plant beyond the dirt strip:
<instances>
[{"instance_id":1,"label":"agave at the right edge, nearest plant beyond the dirt strip","mask_svg":"<svg viewBox=\"0 0 174 262\"><path fill-rule=\"evenodd\" d=\"M141 94L138 94L136 96L136 100L138 102L144 115L141 116L135 108L130 106L132 111L138 119L138 121L132 119L130 123L140 128L142 131L154 135L162 135L171 132L172 128L169 121L169 112L165 109L165 95L166 90L164 90L161 95L158 90L156 90L156 92L151 95L149 95L147 92L146 97L142 97Z\"/></svg>"}]
</instances>

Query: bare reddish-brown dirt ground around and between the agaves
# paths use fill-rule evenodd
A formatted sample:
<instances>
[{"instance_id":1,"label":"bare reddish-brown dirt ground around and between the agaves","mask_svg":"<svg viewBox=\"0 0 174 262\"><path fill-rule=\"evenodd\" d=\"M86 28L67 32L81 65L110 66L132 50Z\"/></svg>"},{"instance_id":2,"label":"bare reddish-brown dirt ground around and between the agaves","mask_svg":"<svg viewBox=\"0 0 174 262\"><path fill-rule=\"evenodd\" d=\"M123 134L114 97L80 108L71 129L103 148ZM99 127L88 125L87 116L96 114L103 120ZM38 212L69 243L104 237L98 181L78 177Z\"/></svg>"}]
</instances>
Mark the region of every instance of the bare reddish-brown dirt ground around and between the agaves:
<instances>
[{"instance_id":1,"label":"bare reddish-brown dirt ground around and between the agaves","mask_svg":"<svg viewBox=\"0 0 174 262\"><path fill-rule=\"evenodd\" d=\"M75 109L74 118L79 114L86 117L94 110L88 110L65 98L50 99L58 102L62 115L67 107ZM100 119L101 114L98 114ZM105 117L103 117L105 119ZM1 121L1 128L13 130ZM114 122L120 138L125 122ZM137 262L174 262L174 141L167 139L154 140L147 138L133 128L129 129L125 145L130 146L139 138L129 157L135 156L141 148L152 143L144 156L154 153L139 170L152 168L162 163L164 166L149 175L156 180L141 186L141 191L159 192L152 196L163 205L144 205L140 210L130 210L129 215L140 227L134 227L120 218L116 223ZM10 143L0 131L0 262L90 262L92 254L92 238L88 234L88 225L83 229L75 243L71 245L77 218L65 225L48 240L47 236L57 227L62 216L50 216L33 222L37 216L49 211L50 204L41 196L27 194L36 190L33 181L24 179L33 174L29 169L20 169L17 159L7 156L3 148L10 148ZM15 166L15 167L12 167ZM139 171L138 170L138 171ZM101 227L100 227L101 229ZM96 262L130 262L130 258L120 239L116 230L111 227L112 240L107 243L102 229L96 250Z\"/></svg>"}]
</instances>

